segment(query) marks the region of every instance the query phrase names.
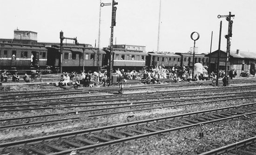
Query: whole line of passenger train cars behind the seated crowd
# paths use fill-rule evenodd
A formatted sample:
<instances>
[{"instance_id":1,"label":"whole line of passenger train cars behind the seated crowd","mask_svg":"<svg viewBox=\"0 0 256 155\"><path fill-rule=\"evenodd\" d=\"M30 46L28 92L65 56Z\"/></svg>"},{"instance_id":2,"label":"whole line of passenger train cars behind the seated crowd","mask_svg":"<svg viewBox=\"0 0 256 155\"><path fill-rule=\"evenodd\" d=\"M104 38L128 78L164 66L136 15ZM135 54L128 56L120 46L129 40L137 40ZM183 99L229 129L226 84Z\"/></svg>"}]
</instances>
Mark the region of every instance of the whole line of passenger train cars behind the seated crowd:
<instances>
[{"instance_id":1,"label":"whole line of passenger train cars behind the seated crowd","mask_svg":"<svg viewBox=\"0 0 256 155\"><path fill-rule=\"evenodd\" d=\"M109 66L109 47L99 50L99 61L97 61L98 49L91 45L63 45L62 46L62 70L97 71L99 67ZM34 55L31 66L31 55ZM113 69L141 70L162 66L192 67L193 54L191 53L168 53L168 52L146 52L145 46L114 45L113 46ZM53 71L59 70L61 66L60 46L57 43L43 45L27 45L0 43L0 70L24 70L24 69L46 69L51 66ZM202 62L207 65L208 57L204 54L195 54L195 63Z\"/></svg>"}]
</instances>

